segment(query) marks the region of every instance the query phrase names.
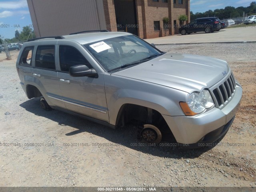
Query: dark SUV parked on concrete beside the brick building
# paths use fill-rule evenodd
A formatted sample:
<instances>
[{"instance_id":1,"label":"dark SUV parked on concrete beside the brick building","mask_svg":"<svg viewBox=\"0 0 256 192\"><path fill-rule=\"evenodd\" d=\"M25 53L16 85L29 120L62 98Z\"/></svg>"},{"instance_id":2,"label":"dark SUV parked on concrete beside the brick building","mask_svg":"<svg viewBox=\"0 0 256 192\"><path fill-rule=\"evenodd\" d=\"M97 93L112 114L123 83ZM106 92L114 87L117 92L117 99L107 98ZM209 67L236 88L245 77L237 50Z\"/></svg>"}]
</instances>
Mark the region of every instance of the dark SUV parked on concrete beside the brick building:
<instances>
[{"instance_id":1,"label":"dark SUV parked on concrete beside the brick building","mask_svg":"<svg viewBox=\"0 0 256 192\"><path fill-rule=\"evenodd\" d=\"M206 17L192 20L190 23L179 28L179 33L182 35L206 32L211 33L221 28L220 20L218 17Z\"/></svg>"}]
</instances>

